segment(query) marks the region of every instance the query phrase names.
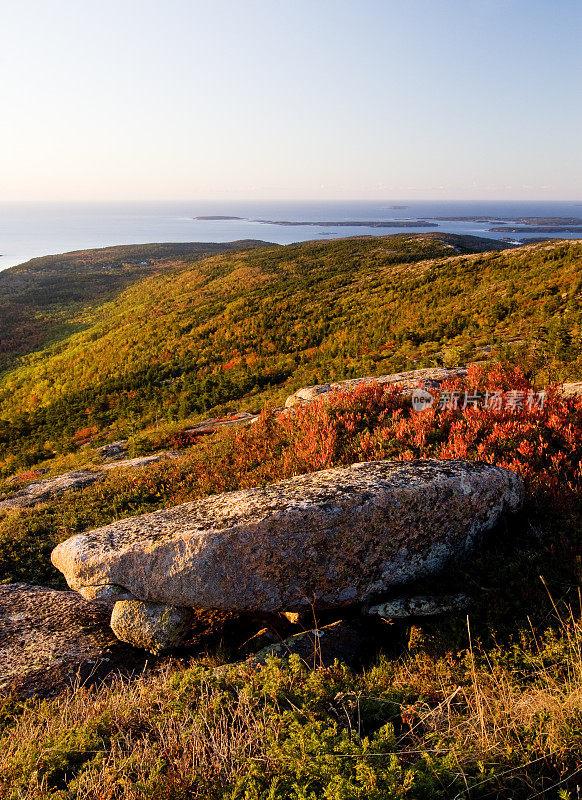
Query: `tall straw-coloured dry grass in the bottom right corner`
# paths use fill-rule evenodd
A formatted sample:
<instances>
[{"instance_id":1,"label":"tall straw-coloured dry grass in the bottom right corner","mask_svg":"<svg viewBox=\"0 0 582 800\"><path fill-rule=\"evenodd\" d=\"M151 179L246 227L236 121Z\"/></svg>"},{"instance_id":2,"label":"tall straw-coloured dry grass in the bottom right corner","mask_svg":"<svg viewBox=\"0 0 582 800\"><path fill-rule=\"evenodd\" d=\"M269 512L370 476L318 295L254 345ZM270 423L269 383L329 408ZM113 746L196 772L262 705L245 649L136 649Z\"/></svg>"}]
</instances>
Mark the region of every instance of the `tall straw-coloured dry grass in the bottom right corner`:
<instances>
[{"instance_id":1,"label":"tall straw-coloured dry grass in the bottom right corner","mask_svg":"<svg viewBox=\"0 0 582 800\"><path fill-rule=\"evenodd\" d=\"M558 615L555 605L554 610ZM560 617L559 632L548 632L543 641L532 629L528 646L515 648L505 664L487 653L476 655L469 620L467 626L467 684L455 687L450 674L431 675L438 686L433 686L435 694L444 699L436 706L420 703L406 710L410 729L401 743L419 751L432 744L441 755L452 755L467 797L480 796L478 789L486 790L486 796L499 796L493 788L504 781L512 783L516 797L532 799L542 794L556 797L560 787L580 783L580 616L570 610ZM408 682L419 680L418 671L406 665L403 669ZM483 774L477 781L476 765ZM560 796L570 796L563 792Z\"/></svg>"}]
</instances>

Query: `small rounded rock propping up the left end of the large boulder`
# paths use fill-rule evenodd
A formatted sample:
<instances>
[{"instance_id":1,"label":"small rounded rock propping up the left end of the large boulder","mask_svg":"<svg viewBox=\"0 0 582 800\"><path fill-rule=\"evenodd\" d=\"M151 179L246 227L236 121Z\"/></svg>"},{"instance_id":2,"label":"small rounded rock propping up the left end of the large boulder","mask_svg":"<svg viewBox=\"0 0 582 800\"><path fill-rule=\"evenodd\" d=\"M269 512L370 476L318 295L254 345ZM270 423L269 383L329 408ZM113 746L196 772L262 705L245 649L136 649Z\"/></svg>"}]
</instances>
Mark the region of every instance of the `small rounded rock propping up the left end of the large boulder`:
<instances>
[{"instance_id":1,"label":"small rounded rock propping up the left end of the large boulder","mask_svg":"<svg viewBox=\"0 0 582 800\"><path fill-rule=\"evenodd\" d=\"M111 629L120 641L158 654L182 644L193 618L189 608L119 600L113 607Z\"/></svg>"}]
</instances>

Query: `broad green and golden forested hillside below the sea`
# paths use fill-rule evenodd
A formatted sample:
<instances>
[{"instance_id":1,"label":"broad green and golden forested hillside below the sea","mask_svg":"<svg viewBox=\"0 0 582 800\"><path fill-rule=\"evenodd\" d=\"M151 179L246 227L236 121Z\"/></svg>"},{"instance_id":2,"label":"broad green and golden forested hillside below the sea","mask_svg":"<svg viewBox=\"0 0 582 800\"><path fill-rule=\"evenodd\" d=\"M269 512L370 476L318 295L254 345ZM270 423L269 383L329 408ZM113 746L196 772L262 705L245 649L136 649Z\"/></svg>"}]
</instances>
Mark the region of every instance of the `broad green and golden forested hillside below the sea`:
<instances>
[{"instance_id":1,"label":"broad green and golden forested hillside below the sea","mask_svg":"<svg viewBox=\"0 0 582 800\"><path fill-rule=\"evenodd\" d=\"M332 379L490 355L546 382L578 375L582 243L502 247L413 234L166 265L85 322L65 315L83 329L5 372L5 474L79 431L99 441Z\"/></svg>"}]
</instances>

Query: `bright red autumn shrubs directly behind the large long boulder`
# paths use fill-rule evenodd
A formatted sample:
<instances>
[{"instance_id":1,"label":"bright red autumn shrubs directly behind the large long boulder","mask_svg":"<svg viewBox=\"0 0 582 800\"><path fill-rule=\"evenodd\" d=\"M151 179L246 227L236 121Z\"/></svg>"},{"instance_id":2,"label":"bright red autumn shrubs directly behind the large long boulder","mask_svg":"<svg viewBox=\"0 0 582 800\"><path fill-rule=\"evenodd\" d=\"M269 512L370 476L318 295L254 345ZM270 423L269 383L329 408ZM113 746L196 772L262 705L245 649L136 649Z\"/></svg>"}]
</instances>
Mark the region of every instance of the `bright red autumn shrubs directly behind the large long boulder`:
<instances>
[{"instance_id":1,"label":"bright red autumn shrubs directly behind the large long boulder","mask_svg":"<svg viewBox=\"0 0 582 800\"><path fill-rule=\"evenodd\" d=\"M498 366L489 373L471 367L465 379L445 388L462 394L466 388L526 393L533 387L521 370ZM484 461L522 475L530 495L562 501L582 487L582 400L562 398L552 387L543 408L524 404L522 409L433 407L415 412L396 387L362 385L277 419L266 412L255 426L237 434L234 449L237 472L254 478L259 472L263 480L356 461Z\"/></svg>"}]
</instances>

